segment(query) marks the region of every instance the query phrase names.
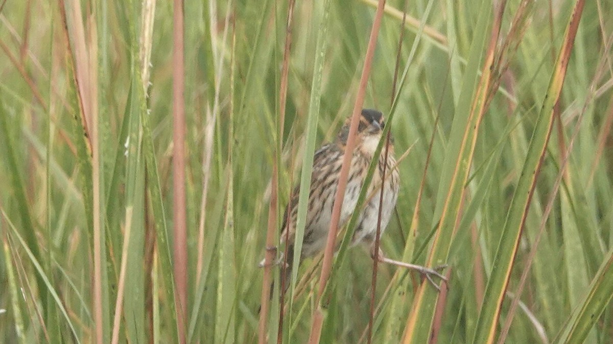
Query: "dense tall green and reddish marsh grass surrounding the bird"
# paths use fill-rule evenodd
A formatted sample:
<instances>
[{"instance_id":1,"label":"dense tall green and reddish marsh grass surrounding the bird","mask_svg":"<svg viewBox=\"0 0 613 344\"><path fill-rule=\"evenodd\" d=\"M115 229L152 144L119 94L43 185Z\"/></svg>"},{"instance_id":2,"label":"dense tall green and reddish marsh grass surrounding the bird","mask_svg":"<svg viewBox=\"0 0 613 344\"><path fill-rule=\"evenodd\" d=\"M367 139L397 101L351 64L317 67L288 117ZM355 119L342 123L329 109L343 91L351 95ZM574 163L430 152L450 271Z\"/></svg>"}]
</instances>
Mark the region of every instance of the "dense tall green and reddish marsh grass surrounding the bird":
<instances>
[{"instance_id":1,"label":"dense tall green and reddish marsh grass surrounding the bird","mask_svg":"<svg viewBox=\"0 0 613 344\"><path fill-rule=\"evenodd\" d=\"M351 115L376 4L185 2L173 138L171 2L0 2L0 341L306 342L317 314L326 343L608 343L610 0L387 1L364 107L406 155L381 246L449 283L373 281L352 219L323 294L318 256L280 304L257 263Z\"/></svg>"}]
</instances>

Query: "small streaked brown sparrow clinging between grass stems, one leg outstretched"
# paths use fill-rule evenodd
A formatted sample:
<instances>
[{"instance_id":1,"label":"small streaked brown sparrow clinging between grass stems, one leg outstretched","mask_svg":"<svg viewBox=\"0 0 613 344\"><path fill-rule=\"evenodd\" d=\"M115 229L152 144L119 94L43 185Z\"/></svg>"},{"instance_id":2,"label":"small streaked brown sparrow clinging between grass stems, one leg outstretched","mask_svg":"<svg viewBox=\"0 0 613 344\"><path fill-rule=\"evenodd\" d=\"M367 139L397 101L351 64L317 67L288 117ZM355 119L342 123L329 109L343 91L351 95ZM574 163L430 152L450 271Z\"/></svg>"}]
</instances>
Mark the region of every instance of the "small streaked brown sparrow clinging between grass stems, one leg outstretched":
<instances>
[{"instance_id":1,"label":"small streaked brown sparrow clinging between grass stems, one leg outstretched","mask_svg":"<svg viewBox=\"0 0 613 344\"><path fill-rule=\"evenodd\" d=\"M332 208L337 193L338 179L343 163L343 155L346 151L350 124L351 117L346 119L335 141L324 144L324 146L314 153L311 186L308 197L307 220L300 262L306 258L317 255L326 247L330 220L332 217ZM345 189L345 196L343 198L343 206L341 208L339 220L341 225L348 222L353 212L356 211L362 184L364 184L367 176L370 162L375 159L375 151L382 138L385 125L383 113L380 111L373 109L364 109L361 111L356 135L356 146L351 158L351 168L349 169L349 177ZM379 206L381 206L380 234L383 235L392 217L392 212L398 200L398 193L400 192L400 173L396 165L393 138L390 138L387 154L385 154L385 150L383 150L379 155L375 173L371 179L370 185L368 185L367 195L371 195L371 197L367 198L366 204L362 208L358 209L360 214L357 219L357 228L351 239L351 246L359 244L367 245L367 247L370 247L371 257L373 259L415 269L424 274L427 279L439 289L438 285L432 280L433 275L446 280L443 275L436 271L439 268L429 269L428 267L416 264L390 260L383 255L383 251L380 248L378 252L375 252ZM383 185L382 202L379 199L381 185ZM287 243L287 247L284 250L287 256L281 256L276 261L281 265L281 277L283 279L282 281L284 281L282 282L282 285L284 285L282 290L283 293L287 290L287 286L289 286L292 272L299 190L300 185L296 185L284 211L283 224L280 228L280 243L281 245ZM372 196L375 195L375 193L376 196ZM260 263L260 266L263 265L264 261Z\"/></svg>"}]
</instances>

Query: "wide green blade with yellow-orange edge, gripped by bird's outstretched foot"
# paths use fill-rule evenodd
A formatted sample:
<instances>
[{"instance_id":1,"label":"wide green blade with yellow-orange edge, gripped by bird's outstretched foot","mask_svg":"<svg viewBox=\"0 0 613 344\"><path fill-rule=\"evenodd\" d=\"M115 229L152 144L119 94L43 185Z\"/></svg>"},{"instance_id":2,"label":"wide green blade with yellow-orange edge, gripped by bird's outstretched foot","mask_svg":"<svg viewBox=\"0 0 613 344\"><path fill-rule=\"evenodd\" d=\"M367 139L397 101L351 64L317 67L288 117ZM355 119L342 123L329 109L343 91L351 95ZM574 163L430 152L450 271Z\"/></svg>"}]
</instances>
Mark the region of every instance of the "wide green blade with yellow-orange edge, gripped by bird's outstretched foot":
<instances>
[{"instance_id":1,"label":"wide green blade with yellow-orange edge, gripped by bird's outstretched foot","mask_svg":"<svg viewBox=\"0 0 613 344\"><path fill-rule=\"evenodd\" d=\"M476 32L479 32L473 39L471 53L468 59L465 75L463 78L460 100L457 105L454 121L451 127L451 134L445 152L444 170L441 176L440 188L436 202L436 211L433 223L440 218L438 229L433 239L432 251L427 260L430 266L438 266L447 262L449 249L456 224L457 214L460 211L463 189L468 178L468 166L470 166L473 152L474 140L476 138L479 123L481 122L482 112L479 106L472 106L471 102L476 86L479 61L485 47L485 32L488 32L490 19L492 18L492 6L489 2L482 2L479 13L479 21ZM484 67L484 70L485 69ZM486 88L487 78L482 78L481 93L476 94L475 102L481 99ZM479 98L477 98L479 97ZM481 99L481 105L482 105ZM474 113L473 113L474 111ZM413 301L411 313L405 328L405 343L422 343L430 337L435 305L438 299L438 291L428 285L427 281L422 283L417 290Z\"/></svg>"}]
</instances>

